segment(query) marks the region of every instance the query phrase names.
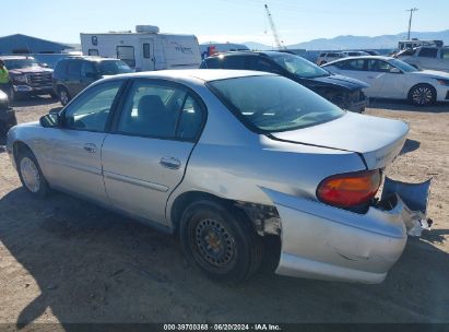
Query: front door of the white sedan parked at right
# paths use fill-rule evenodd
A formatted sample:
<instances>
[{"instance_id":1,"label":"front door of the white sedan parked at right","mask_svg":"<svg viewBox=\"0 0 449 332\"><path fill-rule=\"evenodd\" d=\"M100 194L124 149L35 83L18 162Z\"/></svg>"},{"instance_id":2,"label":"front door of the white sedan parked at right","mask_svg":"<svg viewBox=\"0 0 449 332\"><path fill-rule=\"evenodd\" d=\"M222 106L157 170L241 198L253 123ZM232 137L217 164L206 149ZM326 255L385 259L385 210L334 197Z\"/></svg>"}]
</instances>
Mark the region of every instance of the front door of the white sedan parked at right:
<instances>
[{"instance_id":1,"label":"front door of the white sedan parked at right","mask_svg":"<svg viewBox=\"0 0 449 332\"><path fill-rule=\"evenodd\" d=\"M365 60L366 71L369 72L368 80L375 94L379 98L402 99L406 97L405 75L387 61L379 59Z\"/></svg>"}]
</instances>

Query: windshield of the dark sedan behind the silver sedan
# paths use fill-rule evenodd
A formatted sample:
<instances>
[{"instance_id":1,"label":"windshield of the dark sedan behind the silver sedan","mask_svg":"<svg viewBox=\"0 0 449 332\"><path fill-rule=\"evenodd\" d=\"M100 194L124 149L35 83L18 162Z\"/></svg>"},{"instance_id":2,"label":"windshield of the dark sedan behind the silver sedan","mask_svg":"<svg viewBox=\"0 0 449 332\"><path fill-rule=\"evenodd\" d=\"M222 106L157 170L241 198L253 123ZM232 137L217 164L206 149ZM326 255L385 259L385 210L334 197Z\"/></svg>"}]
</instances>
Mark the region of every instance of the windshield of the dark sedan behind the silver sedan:
<instances>
[{"instance_id":1,"label":"windshield of the dark sedan behind the silver sedan","mask_svg":"<svg viewBox=\"0 0 449 332\"><path fill-rule=\"evenodd\" d=\"M285 68L292 74L300 78L312 79L320 76L329 76L329 72L324 69L293 55L276 55L270 56L277 64Z\"/></svg>"}]
</instances>

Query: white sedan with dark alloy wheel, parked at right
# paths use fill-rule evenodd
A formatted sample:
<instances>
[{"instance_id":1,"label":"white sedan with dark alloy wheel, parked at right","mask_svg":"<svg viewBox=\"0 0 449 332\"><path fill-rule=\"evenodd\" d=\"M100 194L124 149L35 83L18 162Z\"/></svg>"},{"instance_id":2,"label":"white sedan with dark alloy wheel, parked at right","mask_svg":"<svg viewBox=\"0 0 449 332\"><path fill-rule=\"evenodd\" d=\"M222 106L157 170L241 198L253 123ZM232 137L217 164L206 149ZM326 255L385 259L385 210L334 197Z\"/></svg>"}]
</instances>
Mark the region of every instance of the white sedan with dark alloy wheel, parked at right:
<instances>
[{"instance_id":1,"label":"white sedan with dark alloy wheel, parked at right","mask_svg":"<svg viewBox=\"0 0 449 332\"><path fill-rule=\"evenodd\" d=\"M391 57L357 57L323 66L332 73L366 82L369 97L409 99L424 106L449 102L449 74L440 71L420 71Z\"/></svg>"}]
</instances>

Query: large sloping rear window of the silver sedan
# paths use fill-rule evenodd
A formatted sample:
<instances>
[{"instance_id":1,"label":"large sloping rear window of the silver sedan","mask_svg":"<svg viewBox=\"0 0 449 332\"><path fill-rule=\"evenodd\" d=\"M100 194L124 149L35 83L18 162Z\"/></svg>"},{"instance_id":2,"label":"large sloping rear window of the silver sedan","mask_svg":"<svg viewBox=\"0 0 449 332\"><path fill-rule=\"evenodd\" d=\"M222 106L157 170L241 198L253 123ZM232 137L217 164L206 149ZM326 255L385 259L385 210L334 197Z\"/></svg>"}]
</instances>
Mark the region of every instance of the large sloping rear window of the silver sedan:
<instances>
[{"instance_id":1,"label":"large sloping rear window of the silver sedan","mask_svg":"<svg viewBox=\"0 0 449 332\"><path fill-rule=\"evenodd\" d=\"M256 132L279 132L340 118L344 110L303 85L277 75L244 76L209 87Z\"/></svg>"}]
</instances>

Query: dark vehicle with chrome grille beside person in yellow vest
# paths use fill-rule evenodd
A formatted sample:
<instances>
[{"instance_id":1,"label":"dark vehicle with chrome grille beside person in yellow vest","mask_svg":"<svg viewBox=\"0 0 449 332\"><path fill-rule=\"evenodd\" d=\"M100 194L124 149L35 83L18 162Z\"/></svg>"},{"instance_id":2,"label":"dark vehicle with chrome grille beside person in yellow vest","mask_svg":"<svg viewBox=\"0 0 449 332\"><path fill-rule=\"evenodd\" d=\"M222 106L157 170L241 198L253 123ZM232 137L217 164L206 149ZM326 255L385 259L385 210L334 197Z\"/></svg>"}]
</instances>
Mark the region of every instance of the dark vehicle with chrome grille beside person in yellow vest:
<instances>
[{"instance_id":1,"label":"dark vehicle with chrome grille beside person in yellow vest","mask_svg":"<svg viewBox=\"0 0 449 332\"><path fill-rule=\"evenodd\" d=\"M43 67L35 58L28 56L1 56L10 73L12 91L10 99L23 96L51 95L52 69Z\"/></svg>"}]
</instances>

